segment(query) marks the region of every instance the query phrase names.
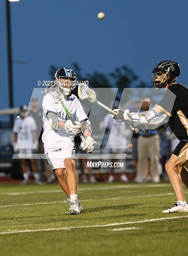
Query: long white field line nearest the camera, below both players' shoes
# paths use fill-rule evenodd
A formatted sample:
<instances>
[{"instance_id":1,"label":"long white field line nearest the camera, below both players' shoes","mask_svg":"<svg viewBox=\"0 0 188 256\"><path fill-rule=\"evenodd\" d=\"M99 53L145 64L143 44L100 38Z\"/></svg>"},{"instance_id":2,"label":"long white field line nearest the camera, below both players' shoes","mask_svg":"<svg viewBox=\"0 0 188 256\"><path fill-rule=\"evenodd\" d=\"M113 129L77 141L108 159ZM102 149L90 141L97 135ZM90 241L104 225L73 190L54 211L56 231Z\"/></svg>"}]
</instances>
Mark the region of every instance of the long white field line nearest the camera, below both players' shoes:
<instances>
[{"instance_id":1,"label":"long white field line nearest the camera, below both players' shoes","mask_svg":"<svg viewBox=\"0 0 188 256\"><path fill-rule=\"evenodd\" d=\"M101 227L112 227L112 226L120 226L120 225L127 225L127 224L154 222L154 221L161 221L161 220L173 220L173 219L180 219L180 218L188 218L188 215L159 218L159 219L149 219L149 220L127 221L127 222L121 222L121 223L110 223L105 225L91 225L91 226L87 225L87 226L77 226L77 227L70 226L70 227L52 228L52 229L9 230L9 231L0 232L0 234L3 235L3 234L30 233L30 232L41 232L41 231L60 231L60 230L71 230L71 229L101 228Z\"/></svg>"}]
</instances>

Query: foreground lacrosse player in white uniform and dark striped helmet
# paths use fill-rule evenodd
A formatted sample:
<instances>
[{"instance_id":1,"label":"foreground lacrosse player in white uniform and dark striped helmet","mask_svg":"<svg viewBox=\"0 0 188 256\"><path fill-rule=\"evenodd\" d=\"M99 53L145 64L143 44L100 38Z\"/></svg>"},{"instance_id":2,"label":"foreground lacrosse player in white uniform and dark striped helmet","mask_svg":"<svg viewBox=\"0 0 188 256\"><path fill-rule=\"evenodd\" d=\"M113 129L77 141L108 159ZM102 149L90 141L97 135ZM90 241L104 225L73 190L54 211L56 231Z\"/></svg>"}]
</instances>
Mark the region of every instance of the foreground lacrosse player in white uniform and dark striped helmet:
<instances>
[{"instance_id":1,"label":"foreground lacrosse player in white uniform and dark striped helmet","mask_svg":"<svg viewBox=\"0 0 188 256\"><path fill-rule=\"evenodd\" d=\"M55 89L62 101L57 102L51 90L48 90L43 98L44 153L58 178L61 189L67 195L70 204L69 214L77 215L81 213L82 207L77 197L74 136L83 132L85 144L82 142L81 147L87 153L93 152L96 142L91 138L90 121L80 101L72 94L76 85L76 73L71 68L61 67L56 71L55 79ZM74 124L63 104L71 117L76 120Z\"/></svg>"}]
</instances>

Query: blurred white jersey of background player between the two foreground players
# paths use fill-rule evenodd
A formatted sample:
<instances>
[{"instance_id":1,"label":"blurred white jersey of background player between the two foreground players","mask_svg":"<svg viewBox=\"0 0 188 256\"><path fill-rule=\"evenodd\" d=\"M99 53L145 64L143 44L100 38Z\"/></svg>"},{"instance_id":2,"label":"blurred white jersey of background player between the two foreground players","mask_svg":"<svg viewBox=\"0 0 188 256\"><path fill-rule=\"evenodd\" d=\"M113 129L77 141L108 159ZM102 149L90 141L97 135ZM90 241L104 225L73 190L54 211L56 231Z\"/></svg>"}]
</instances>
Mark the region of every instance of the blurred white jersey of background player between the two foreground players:
<instances>
[{"instance_id":1,"label":"blurred white jersey of background player between the two foreground players","mask_svg":"<svg viewBox=\"0 0 188 256\"><path fill-rule=\"evenodd\" d=\"M104 124L108 129L110 129L106 148L127 148L127 139L124 136L124 131L126 130L125 122L116 122L112 117L110 117L109 113L104 117Z\"/></svg>"}]
</instances>

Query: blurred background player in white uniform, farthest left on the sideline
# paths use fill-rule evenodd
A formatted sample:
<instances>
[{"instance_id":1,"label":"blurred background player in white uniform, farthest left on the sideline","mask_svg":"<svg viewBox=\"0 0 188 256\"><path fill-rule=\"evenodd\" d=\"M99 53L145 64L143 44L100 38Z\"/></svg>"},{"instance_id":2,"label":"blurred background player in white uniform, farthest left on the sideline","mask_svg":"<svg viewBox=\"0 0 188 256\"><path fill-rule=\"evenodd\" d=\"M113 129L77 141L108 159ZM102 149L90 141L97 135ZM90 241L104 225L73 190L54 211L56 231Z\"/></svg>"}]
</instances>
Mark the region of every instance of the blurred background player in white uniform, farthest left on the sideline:
<instances>
[{"instance_id":1,"label":"blurred background player in white uniform, farthest left on the sideline","mask_svg":"<svg viewBox=\"0 0 188 256\"><path fill-rule=\"evenodd\" d=\"M33 117L30 117L27 113L27 105L21 106L19 116L14 121L13 126L14 151L17 152L18 157L21 158L21 169L24 177L24 180L21 184L28 184L30 182L30 172L28 171L25 154L27 154L27 157L29 158L31 171L34 173L35 183L42 184L38 174L36 160L32 157L32 148L36 148L37 146L36 130L37 126Z\"/></svg>"}]
</instances>

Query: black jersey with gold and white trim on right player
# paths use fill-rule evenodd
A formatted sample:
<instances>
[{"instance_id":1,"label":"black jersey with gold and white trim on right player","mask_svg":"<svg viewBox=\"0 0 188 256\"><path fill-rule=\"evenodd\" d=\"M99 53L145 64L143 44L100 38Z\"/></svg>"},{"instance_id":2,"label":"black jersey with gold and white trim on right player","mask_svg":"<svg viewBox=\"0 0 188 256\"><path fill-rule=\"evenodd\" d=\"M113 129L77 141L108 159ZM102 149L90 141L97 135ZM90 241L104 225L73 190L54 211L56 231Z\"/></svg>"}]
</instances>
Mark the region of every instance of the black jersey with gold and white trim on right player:
<instances>
[{"instance_id":1,"label":"black jersey with gold and white trim on right player","mask_svg":"<svg viewBox=\"0 0 188 256\"><path fill-rule=\"evenodd\" d=\"M188 141L188 89L184 85L168 86L162 100L155 105L166 113L169 126L179 140Z\"/></svg>"}]
</instances>

